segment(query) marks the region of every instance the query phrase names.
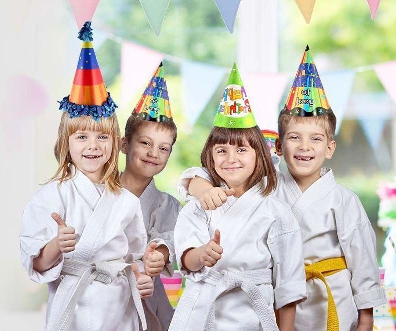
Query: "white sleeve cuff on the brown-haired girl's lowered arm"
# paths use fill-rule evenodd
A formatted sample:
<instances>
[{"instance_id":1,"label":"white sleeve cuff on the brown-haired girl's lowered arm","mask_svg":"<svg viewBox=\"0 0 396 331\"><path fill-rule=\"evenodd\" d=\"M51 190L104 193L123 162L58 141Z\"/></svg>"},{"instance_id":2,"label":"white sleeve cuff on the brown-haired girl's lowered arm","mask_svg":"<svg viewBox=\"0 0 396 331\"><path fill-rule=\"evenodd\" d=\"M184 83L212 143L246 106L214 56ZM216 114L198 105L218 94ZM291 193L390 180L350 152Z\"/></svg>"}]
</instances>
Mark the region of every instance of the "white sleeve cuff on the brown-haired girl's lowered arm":
<instances>
[{"instance_id":1,"label":"white sleeve cuff on the brown-haired girl's lowered arm","mask_svg":"<svg viewBox=\"0 0 396 331\"><path fill-rule=\"evenodd\" d=\"M293 283L286 283L282 286L275 287L274 300L275 309L282 308L288 303L295 301L305 301L308 297L306 291L306 282L298 281Z\"/></svg>"}]
</instances>

